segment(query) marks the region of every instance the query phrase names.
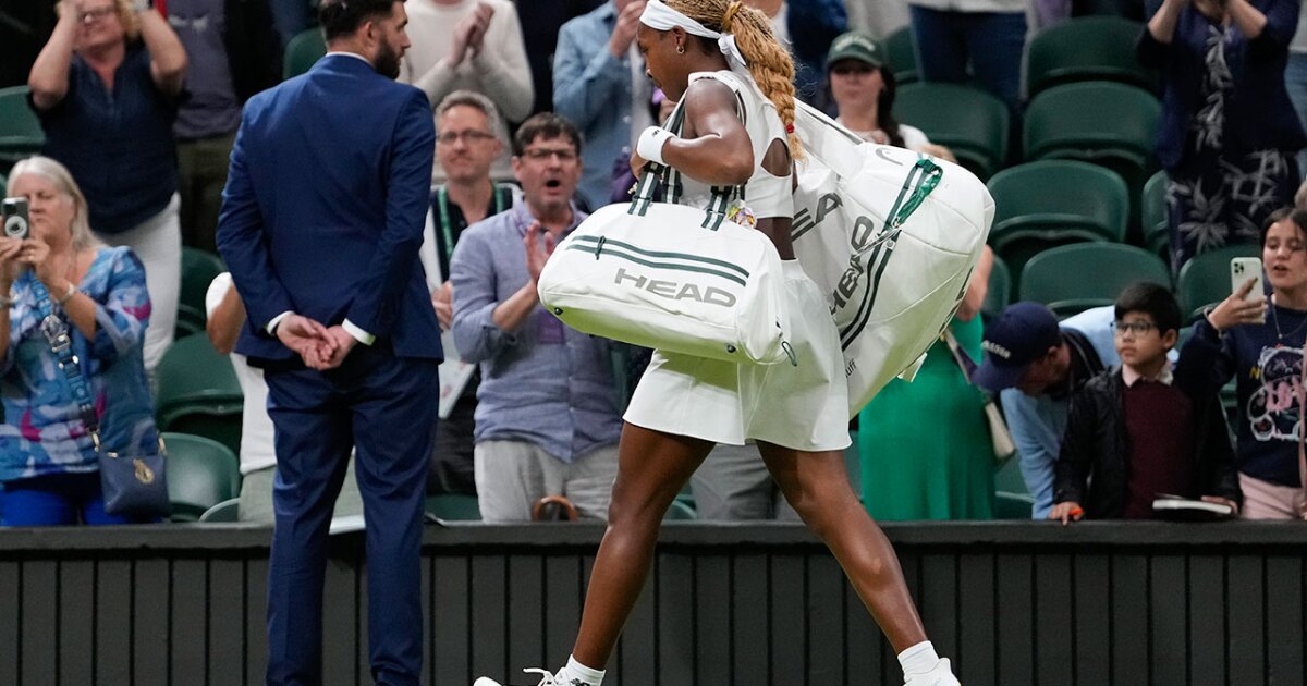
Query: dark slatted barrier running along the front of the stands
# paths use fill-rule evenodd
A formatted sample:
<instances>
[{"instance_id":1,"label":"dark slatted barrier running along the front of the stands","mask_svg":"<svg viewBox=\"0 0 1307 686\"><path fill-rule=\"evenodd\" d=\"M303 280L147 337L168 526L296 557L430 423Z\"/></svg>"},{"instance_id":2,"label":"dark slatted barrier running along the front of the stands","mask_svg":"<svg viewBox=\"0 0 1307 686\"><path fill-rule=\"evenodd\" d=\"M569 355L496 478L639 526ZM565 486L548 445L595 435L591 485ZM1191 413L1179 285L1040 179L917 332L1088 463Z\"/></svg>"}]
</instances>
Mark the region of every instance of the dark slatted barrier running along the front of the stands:
<instances>
[{"instance_id":1,"label":"dark slatted barrier running along the front of the stands","mask_svg":"<svg viewBox=\"0 0 1307 686\"><path fill-rule=\"evenodd\" d=\"M975 685L1302 685L1295 524L887 525L931 638ZM437 686L557 668L601 529L429 527ZM333 542L325 676L367 674L362 538ZM268 529L0 531L0 685L263 682ZM665 527L610 686L902 683L839 567L797 525Z\"/></svg>"}]
</instances>

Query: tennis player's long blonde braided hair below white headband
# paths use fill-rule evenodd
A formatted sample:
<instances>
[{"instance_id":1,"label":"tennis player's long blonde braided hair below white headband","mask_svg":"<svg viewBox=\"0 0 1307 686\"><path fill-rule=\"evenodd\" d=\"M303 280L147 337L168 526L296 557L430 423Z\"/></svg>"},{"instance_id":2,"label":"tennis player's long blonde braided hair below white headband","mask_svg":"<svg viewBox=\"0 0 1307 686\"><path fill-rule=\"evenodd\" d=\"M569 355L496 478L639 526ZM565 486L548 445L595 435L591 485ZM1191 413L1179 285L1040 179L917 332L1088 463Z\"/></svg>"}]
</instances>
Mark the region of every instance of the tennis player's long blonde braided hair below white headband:
<instances>
[{"instance_id":1,"label":"tennis player's long blonde braided hair below white headband","mask_svg":"<svg viewBox=\"0 0 1307 686\"><path fill-rule=\"evenodd\" d=\"M789 154L802 157L795 128L795 60L771 33L771 20L738 0L664 0L668 7L702 24L706 29L732 34L749 63L749 74L762 94L776 106L786 124ZM712 47L716 50L716 46Z\"/></svg>"}]
</instances>

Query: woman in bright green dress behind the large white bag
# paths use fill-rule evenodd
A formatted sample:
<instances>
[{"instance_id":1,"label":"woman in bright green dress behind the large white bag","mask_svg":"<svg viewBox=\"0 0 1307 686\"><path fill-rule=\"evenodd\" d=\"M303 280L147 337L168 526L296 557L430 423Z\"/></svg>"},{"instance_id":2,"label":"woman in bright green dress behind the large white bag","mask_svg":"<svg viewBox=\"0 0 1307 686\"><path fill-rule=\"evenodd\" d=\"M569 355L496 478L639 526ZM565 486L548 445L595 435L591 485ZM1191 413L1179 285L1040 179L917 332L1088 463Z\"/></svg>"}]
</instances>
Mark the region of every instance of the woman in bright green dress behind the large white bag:
<instances>
[{"instance_id":1,"label":"woman in bright green dress behind the large white bag","mask_svg":"<svg viewBox=\"0 0 1307 686\"><path fill-rule=\"evenodd\" d=\"M959 355L980 359L980 307L993 252L985 247L949 335ZM863 506L876 520L992 519L993 442L984 396L946 340L912 383L894 379L857 417ZM968 367L970 368L970 367Z\"/></svg>"}]
</instances>

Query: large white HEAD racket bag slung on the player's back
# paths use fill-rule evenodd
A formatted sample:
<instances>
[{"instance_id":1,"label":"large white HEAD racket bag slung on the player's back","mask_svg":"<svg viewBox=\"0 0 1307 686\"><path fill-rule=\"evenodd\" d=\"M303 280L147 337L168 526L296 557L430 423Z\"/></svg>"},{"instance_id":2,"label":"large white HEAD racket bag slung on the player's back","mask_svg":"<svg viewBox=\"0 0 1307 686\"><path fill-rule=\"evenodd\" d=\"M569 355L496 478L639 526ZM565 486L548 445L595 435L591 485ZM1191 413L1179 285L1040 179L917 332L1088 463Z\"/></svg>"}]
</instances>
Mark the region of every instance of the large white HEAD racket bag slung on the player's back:
<instances>
[{"instance_id":1,"label":"large white HEAD racket bag slung on the player's back","mask_svg":"<svg viewBox=\"0 0 1307 686\"><path fill-rule=\"evenodd\" d=\"M993 199L958 165L863 141L799 103L792 229L804 272L831 301L850 416L915 371L966 294Z\"/></svg>"}]
</instances>

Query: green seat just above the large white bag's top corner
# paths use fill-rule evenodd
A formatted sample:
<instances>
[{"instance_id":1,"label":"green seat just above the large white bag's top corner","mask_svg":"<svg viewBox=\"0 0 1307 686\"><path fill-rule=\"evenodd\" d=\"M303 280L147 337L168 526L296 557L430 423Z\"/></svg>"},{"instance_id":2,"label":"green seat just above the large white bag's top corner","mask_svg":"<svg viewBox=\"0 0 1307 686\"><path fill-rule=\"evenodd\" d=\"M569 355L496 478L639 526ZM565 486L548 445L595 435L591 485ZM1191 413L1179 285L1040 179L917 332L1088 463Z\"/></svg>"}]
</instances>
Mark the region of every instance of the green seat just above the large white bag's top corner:
<instances>
[{"instance_id":1,"label":"green seat just above the large white bag's top corner","mask_svg":"<svg viewBox=\"0 0 1307 686\"><path fill-rule=\"evenodd\" d=\"M898 90L894 116L946 145L958 163L987 180L1008 154L1008 107L984 90L957 84L911 84Z\"/></svg>"}]
</instances>

